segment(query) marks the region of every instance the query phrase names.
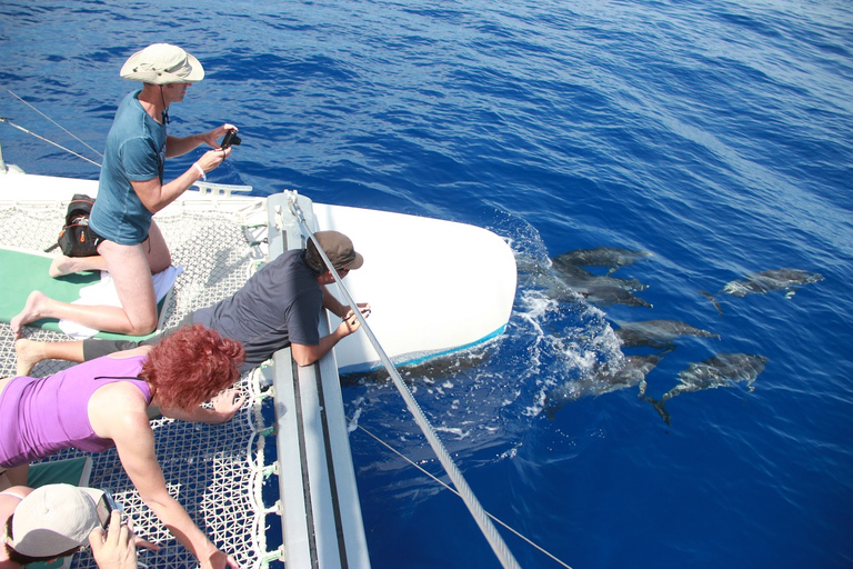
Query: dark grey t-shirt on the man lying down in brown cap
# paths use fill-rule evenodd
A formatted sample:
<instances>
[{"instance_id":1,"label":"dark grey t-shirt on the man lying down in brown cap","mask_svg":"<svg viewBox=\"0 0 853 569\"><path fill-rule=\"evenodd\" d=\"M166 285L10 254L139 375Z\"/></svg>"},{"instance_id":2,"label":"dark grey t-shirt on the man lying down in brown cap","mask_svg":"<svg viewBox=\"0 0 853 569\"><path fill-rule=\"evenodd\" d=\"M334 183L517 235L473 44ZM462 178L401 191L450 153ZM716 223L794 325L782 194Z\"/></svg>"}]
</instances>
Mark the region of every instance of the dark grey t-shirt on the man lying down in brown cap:
<instances>
[{"instance_id":1,"label":"dark grey t-shirt on the man lying down in brown cap","mask_svg":"<svg viewBox=\"0 0 853 569\"><path fill-rule=\"evenodd\" d=\"M323 291L302 260L304 249L280 254L261 267L232 297L192 315L192 322L239 340L245 349L240 371L267 361L291 342L320 343Z\"/></svg>"}]
</instances>

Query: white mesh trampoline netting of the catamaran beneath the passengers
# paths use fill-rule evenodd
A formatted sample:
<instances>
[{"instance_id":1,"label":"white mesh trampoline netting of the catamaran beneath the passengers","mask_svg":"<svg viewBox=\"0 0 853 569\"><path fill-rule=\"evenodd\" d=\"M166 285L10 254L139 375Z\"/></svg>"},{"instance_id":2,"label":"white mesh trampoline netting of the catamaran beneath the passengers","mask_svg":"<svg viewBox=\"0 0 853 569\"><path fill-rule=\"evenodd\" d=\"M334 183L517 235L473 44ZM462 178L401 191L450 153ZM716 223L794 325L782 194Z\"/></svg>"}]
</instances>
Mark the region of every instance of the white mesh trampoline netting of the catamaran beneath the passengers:
<instances>
[{"instance_id":1,"label":"white mesh trampoline netting of the catamaran beneath the passengers","mask_svg":"<svg viewBox=\"0 0 853 569\"><path fill-rule=\"evenodd\" d=\"M223 202L242 207L223 207ZM249 220L258 218L260 200L211 200L173 204L155 216L175 267L183 267L167 310L164 328L187 313L210 306L237 291L262 260L253 243ZM0 247L43 251L56 242L67 203L0 203ZM260 211L262 213L262 211ZM57 251L58 252L58 251ZM39 341L68 340L63 333L27 327L24 336ZM8 323L0 323L2 376L16 375L14 338ZM49 360L32 370L44 377L69 363ZM267 552L267 515L273 507L263 505L264 436L261 407L270 406L262 391L261 373L241 378L240 390L247 403L225 425L200 425L171 419L154 419L157 456L171 495L215 546L234 557L241 567L260 567L280 558L277 549ZM270 445L267 451L274 448ZM47 460L86 456L63 451ZM159 552L140 549L140 561L151 568L193 567L198 562L142 502L124 473L114 449L92 455L89 486L110 490L123 505L138 536L162 547ZM269 492L267 492L269 493ZM273 522L274 523L274 522ZM271 540L272 541L272 540ZM280 543L280 541L278 542ZM278 545L273 547L278 548ZM88 549L71 567L97 567Z\"/></svg>"}]
</instances>

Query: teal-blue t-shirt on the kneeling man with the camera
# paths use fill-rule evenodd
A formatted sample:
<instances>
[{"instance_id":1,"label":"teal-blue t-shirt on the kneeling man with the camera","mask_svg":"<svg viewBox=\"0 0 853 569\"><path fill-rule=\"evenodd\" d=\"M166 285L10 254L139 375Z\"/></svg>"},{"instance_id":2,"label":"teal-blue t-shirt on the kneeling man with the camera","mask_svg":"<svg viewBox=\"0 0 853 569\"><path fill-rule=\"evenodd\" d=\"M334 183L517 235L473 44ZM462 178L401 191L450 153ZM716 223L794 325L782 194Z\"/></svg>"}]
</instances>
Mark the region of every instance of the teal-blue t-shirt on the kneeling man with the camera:
<instances>
[{"instance_id":1,"label":"teal-blue t-shirt on the kneeling man with the camera","mask_svg":"<svg viewBox=\"0 0 853 569\"><path fill-rule=\"evenodd\" d=\"M107 136L98 199L89 219L92 230L120 244L137 244L148 238L151 212L133 191L131 181L160 178L165 162L165 124L151 118L136 91L119 104Z\"/></svg>"}]
</instances>

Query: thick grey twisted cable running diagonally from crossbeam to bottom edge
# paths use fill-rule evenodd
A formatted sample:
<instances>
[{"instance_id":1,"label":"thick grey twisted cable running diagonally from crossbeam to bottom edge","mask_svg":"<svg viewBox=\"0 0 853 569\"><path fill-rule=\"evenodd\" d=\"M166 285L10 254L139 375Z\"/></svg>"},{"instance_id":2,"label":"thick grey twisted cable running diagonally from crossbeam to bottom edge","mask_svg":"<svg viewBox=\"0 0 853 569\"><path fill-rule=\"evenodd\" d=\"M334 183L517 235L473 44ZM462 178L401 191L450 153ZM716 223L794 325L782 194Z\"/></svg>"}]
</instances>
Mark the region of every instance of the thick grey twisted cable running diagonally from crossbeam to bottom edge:
<instances>
[{"instance_id":1,"label":"thick grey twisted cable running diagonally from crossbeam to bottom edge","mask_svg":"<svg viewBox=\"0 0 853 569\"><path fill-rule=\"evenodd\" d=\"M297 218L297 221L299 222L299 227L302 230L302 233L305 236L307 239L310 239L311 241L314 242L314 247L317 247L317 251L323 258L323 262L325 262L325 266L329 268L330 272L334 277L334 281L338 283L338 288L340 289L341 293L345 298L349 306L352 308L352 311L358 318L359 323L361 325L361 328L364 330L364 333L367 333L368 339L370 340L370 343L373 345L373 349L377 350L377 355L379 356L380 360L382 360L382 363L384 365L385 369L391 376L391 379L394 381L394 386L397 386L397 390L400 392L403 400L405 401L407 407L409 408L409 411L414 417L414 422L418 423L418 426L423 431L423 435L426 437L426 441L430 443L433 452L435 452L435 456L439 458L439 461L444 467L444 470L448 472L448 476L453 482L453 486L456 487L456 490L459 491L459 496L462 498L462 501L465 502L465 506L468 506L468 509L471 512L471 516L473 516L474 521L476 521L476 525L480 526L480 531L483 532L483 536L485 536L485 539L489 541L489 545L492 547L492 551L494 551L494 555L498 556L498 559L500 560L501 565L504 568L520 569L521 566L512 556L512 552L506 547L506 543L503 541L503 538L501 538L501 535L498 533L498 529L489 519L489 516L485 513L485 510L483 510L483 507L478 501L476 497L474 496L474 492L468 486L468 482L462 476L462 472L460 472L455 462L453 462L453 459L450 457L450 452L448 452L448 449L439 439L439 436L435 433L435 430L433 429L432 425L430 425L430 421L429 419L426 419L426 416L423 415L423 411L418 405L418 401L414 399L414 396L412 396L412 392L403 382L403 379L400 377L400 373L397 371L397 368L394 367L393 363L391 363L391 360L385 353L385 350L379 343L379 340L377 340L377 337L373 335L373 330L370 329L370 326L364 319L364 316L361 313L361 310L359 310L359 306L350 296L350 291L347 290L347 287L343 286L343 282L341 281L341 278L338 274L338 271L334 270L334 268L332 267L332 263L329 260L329 257L325 254L325 251L323 251L323 248L320 247L320 243L314 237L313 231L309 229L308 222L305 221L305 217L302 212L302 209L299 207L299 203L297 202L297 193L293 191L287 192L287 193L288 193L288 204L290 206L290 211Z\"/></svg>"}]
</instances>

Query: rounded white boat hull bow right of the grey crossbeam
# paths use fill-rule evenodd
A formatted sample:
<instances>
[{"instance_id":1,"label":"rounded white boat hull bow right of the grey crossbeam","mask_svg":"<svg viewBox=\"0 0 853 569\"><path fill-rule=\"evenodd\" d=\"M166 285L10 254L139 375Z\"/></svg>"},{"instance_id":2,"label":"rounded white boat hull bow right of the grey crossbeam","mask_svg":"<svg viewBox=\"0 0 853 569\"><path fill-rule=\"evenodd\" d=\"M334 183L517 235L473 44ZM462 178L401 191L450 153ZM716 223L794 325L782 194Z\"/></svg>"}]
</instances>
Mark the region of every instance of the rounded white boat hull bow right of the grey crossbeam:
<instances>
[{"instance_id":1,"label":"rounded white boat hull bow right of the grey crossbeam","mask_svg":"<svg viewBox=\"0 0 853 569\"><path fill-rule=\"evenodd\" d=\"M314 216L319 229L349 236L364 256L364 266L343 283L357 302L370 302L368 323L394 362L459 350L506 326L515 297L515 258L491 231L321 203L314 203ZM332 326L338 322L333 319ZM335 355L343 372L380 366L365 335L348 337Z\"/></svg>"}]
</instances>

